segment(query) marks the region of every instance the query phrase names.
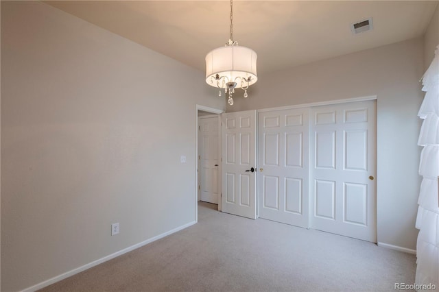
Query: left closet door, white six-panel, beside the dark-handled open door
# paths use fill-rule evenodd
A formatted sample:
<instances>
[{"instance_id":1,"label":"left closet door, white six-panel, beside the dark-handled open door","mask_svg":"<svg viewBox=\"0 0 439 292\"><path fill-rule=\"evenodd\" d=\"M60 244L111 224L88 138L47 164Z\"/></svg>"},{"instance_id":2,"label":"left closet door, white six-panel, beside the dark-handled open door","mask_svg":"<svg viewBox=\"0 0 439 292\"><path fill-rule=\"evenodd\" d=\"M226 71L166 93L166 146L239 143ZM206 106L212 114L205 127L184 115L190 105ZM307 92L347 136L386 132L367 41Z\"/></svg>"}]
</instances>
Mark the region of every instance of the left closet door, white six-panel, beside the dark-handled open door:
<instances>
[{"instance_id":1,"label":"left closet door, white six-panel, beside the dark-handled open door","mask_svg":"<svg viewBox=\"0 0 439 292\"><path fill-rule=\"evenodd\" d=\"M303 228L309 228L308 112L259 112L259 217Z\"/></svg>"}]
</instances>

